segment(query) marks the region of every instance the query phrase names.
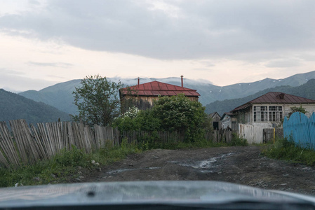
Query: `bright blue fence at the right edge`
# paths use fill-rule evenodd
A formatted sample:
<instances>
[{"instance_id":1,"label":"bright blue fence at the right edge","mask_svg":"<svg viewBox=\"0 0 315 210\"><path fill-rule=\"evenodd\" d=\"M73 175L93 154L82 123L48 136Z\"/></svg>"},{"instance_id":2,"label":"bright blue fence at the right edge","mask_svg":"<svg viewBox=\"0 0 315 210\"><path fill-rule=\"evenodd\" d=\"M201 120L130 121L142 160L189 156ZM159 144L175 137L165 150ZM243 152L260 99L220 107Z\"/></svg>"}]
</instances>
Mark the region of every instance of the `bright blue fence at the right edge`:
<instances>
[{"instance_id":1,"label":"bright blue fence at the right edge","mask_svg":"<svg viewBox=\"0 0 315 210\"><path fill-rule=\"evenodd\" d=\"M295 144L315 150L315 113L307 118L304 113L295 112L289 120L284 118L283 136L289 139L290 135Z\"/></svg>"}]
</instances>

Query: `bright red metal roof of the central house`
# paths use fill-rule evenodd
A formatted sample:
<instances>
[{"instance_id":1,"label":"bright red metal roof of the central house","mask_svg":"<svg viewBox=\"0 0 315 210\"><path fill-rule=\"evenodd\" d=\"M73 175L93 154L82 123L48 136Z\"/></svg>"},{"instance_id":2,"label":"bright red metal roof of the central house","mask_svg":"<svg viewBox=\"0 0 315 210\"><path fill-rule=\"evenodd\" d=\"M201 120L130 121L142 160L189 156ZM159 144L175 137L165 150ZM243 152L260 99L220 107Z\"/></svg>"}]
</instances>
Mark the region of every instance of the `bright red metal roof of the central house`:
<instances>
[{"instance_id":1,"label":"bright red metal roof of the central house","mask_svg":"<svg viewBox=\"0 0 315 210\"><path fill-rule=\"evenodd\" d=\"M167 83L161 83L153 81L149 83L143 83L140 85L134 85L130 87L121 88L119 91L121 94L137 94L141 96L173 96L180 93L185 94L187 97L199 97L200 94L196 90L189 89L187 87L180 87L177 85L170 85Z\"/></svg>"}]
</instances>

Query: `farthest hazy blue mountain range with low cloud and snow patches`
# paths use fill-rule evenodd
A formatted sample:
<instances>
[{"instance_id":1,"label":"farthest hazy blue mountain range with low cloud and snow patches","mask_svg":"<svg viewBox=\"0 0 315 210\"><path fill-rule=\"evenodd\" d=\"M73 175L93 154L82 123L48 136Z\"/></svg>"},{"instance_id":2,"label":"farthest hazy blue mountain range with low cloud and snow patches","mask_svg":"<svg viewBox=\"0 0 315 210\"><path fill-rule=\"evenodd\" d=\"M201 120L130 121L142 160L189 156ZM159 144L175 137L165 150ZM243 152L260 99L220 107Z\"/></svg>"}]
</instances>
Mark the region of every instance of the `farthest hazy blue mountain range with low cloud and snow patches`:
<instances>
[{"instance_id":1,"label":"farthest hazy blue mountain range with low cloud and snow patches","mask_svg":"<svg viewBox=\"0 0 315 210\"><path fill-rule=\"evenodd\" d=\"M307 80L315 78L315 71L309 73L300 73L294 76L290 76L284 79L271 79L265 78L264 80L256 81L253 83L238 83L234 85L227 86L216 86L211 84L206 80L190 80L184 78L184 87L189 87L197 90L201 97L199 101L203 106L215 102L217 100L224 99L237 99L241 97L246 97L251 94L255 94L261 90L277 87L277 86L298 86L307 82ZM125 78L109 78L110 80L121 82L126 86L136 85L138 83L137 78L125 79ZM224 79L224 78L222 78ZM150 81L158 80L163 83L170 83L172 85L181 85L181 79L170 77L170 78L140 78L140 83L147 83ZM74 114L77 109L73 104L72 92L74 87L79 87L81 80L70 80L65 83L58 83L56 85L46 87L43 90L28 90L26 92L21 92L20 95L33 99L36 102L43 102L54 106L55 108L65 111L66 113Z\"/></svg>"}]
</instances>

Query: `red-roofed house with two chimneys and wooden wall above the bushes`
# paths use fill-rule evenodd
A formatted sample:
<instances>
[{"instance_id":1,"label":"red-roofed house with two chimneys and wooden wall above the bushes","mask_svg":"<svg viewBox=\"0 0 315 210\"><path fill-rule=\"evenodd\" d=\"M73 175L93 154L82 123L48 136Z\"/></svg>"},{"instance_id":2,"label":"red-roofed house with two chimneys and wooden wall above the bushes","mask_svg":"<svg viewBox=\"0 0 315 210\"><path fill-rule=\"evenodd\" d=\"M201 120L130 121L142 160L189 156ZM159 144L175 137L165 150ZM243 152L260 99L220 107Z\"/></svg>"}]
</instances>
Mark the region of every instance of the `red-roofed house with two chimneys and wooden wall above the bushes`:
<instances>
[{"instance_id":1,"label":"red-roofed house with two chimneys and wooden wall above the bushes","mask_svg":"<svg viewBox=\"0 0 315 210\"><path fill-rule=\"evenodd\" d=\"M131 87L124 87L119 90L121 101L126 99L133 100L133 105L138 106L139 109L149 109L152 107L154 100L159 96L175 96L177 94L185 94L189 99L198 101L200 94L196 90L192 90L187 87L170 85L167 83L161 83L153 81L149 83L140 84L138 79L138 85Z\"/></svg>"}]
</instances>

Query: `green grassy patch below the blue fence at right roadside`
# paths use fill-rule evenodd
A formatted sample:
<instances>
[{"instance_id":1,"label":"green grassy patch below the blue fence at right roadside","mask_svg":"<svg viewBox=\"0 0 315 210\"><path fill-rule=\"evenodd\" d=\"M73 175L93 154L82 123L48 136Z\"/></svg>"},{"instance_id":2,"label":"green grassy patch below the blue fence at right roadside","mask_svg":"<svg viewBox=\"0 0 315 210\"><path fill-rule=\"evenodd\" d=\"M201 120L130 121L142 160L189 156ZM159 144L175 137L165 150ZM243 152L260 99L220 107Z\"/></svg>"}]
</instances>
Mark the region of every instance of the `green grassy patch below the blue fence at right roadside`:
<instances>
[{"instance_id":1,"label":"green grassy patch below the blue fence at right roadside","mask_svg":"<svg viewBox=\"0 0 315 210\"><path fill-rule=\"evenodd\" d=\"M300 148L290 139L277 139L274 145L267 146L262 151L262 155L266 155L269 158L315 166L315 151Z\"/></svg>"}]
</instances>

